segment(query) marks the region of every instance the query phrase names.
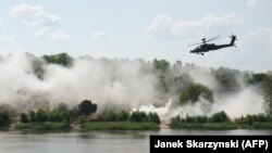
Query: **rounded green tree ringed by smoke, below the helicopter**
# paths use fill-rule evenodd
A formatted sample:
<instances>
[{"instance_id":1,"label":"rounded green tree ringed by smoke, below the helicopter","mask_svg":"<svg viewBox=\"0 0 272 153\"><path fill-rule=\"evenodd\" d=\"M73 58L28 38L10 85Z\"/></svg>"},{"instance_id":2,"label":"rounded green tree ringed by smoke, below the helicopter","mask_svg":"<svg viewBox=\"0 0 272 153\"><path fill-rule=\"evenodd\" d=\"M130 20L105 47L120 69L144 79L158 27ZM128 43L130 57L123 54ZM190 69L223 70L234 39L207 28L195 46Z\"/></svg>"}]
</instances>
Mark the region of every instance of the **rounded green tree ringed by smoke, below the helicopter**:
<instances>
[{"instance_id":1,"label":"rounded green tree ringed by smoke, below the helicopter","mask_svg":"<svg viewBox=\"0 0 272 153\"><path fill-rule=\"evenodd\" d=\"M202 95L203 99L209 102L213 102L213 91L201 84L190 84L180 95L181 104L187 102L197 102L199 97Z\"/></svg>"}]
</instances>

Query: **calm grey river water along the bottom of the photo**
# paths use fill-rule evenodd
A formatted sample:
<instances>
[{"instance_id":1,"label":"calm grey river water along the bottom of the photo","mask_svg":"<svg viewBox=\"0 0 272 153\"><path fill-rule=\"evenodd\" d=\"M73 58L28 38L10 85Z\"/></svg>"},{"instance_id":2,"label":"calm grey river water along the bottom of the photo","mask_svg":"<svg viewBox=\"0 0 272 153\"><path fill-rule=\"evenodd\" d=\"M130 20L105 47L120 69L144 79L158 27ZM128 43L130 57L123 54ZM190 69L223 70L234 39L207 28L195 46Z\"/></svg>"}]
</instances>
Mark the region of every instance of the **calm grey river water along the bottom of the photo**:
<instances>
[{"instance_id":1,"label":"calm grey river water along the bottom of the photo","mask_svg":"<svg viewBox=\"0 0 272 153\"><path fill-rule=\"evenodd\" d=\"M33 133L0 131L1 153L149 153L150 135L272 135L272 130L171 130Z\"/></svg>"}]
</instances>

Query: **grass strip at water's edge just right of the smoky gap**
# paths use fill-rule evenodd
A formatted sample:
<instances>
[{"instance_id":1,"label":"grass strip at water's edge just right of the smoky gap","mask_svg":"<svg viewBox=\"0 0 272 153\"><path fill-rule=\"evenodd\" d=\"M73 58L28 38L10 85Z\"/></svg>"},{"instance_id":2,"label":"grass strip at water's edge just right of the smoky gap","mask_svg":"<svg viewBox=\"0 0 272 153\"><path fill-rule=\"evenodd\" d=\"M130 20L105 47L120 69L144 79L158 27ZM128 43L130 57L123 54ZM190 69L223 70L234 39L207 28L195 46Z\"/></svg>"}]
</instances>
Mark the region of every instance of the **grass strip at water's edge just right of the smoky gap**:
<instances>
[{"instance_id":1,"label":"grass strip at water's edge just right of the smoky gap","mask_svg":"<svg viewBox=\"0 0 272 153\"><path fill-rule=\"evenodd\" d=\"M174 129L236 129L237 126L234 123L196 123L196 124L184 124L180 123L175 126L171 126Z\"/></svg>"}]
</instances>

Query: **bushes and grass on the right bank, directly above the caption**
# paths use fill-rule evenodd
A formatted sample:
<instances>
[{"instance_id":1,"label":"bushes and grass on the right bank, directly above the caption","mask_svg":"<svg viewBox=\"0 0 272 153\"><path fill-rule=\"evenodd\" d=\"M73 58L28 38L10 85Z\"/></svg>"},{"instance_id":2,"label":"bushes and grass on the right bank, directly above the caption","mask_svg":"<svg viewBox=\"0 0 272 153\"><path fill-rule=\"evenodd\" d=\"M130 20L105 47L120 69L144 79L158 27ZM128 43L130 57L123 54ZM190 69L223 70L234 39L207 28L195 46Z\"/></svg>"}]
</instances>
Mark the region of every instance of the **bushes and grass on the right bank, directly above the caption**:
<instances>
[{"instance_id":1,"label":"bushes and grass on the right bank, directly above the caption","mask_svg":"<svg viewBox=\"0 0 272 153\"><path fill-rule=\"evenodd\" d=\"M170 122L171 128L189 128L189 129L272 129L272 115L256 114L246 115L231 119L223 111L214 113L211 117L207 116L186 116L173 117Z\"/></svg>"}]
</instances>

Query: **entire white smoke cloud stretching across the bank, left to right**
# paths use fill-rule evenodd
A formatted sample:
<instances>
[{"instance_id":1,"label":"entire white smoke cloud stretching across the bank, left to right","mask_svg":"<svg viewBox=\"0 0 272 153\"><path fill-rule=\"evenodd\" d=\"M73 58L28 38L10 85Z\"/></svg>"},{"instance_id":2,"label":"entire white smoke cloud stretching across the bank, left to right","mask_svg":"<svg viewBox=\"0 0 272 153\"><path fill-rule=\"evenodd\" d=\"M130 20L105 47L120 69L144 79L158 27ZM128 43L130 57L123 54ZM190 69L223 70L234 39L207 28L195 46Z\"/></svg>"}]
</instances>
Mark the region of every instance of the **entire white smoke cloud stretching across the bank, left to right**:
<instances>
[{"instance_id":1,"label":"entire white smoke cloud stretching across the bank, left to right","mask_svg":"<svg viewBox=\"0 0 272 153\"><path fill-rule=\"evenodd\" d=\"M147 62L81 58L71 67L44 64L44 78L39 79L33 71L34 61L35 56L29 54L0 55L0 103L9 103L20 111L27 111L33 107L54 106L58 103L77 105L84 99L89 99L98 104L100 111L106 105L113 105L156 112L164 123L176 115L210 116L225 111L235 118L264 112L261 90L258 87L246 87L239 79L240 90L219 94L219 85L211 68L199 71L197 66L195 69L183 67L180 73L187 73L194 82L203 84L214 90L214 102L207 102L200 97L196 103L180 105L176 103L178 93L161 95L157 89L158 77L150 72L152 65ZM160 97L170 97L170 100L161 102Z\"/></svg>"}]
</instances>

